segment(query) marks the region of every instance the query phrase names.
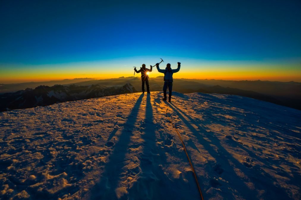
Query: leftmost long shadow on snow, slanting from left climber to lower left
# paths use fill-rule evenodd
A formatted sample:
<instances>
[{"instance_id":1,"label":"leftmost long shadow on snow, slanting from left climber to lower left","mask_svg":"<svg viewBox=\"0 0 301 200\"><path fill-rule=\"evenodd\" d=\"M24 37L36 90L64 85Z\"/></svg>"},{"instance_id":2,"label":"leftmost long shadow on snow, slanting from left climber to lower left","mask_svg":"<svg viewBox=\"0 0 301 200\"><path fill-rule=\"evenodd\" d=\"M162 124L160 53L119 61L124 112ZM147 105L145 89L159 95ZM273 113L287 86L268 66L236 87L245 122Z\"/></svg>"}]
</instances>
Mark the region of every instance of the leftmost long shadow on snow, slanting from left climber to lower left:
<instances>
[{"instance_id":1,"label":"leftmost long shadow on snow, slanting from left climber to lower left","mask_svg":"<svg viewBox=\"0 0 301 200\"><path fill-rule=\"evenodd\" d=\"M123 162L126 156L127 146L130 142L132 132L135 129L135 122L143 96L144 94L140 95L129 114L128 120L124 124L123 131L119 136L119 140L115 144L113 153L109 157L110 160L105 165L104 174L106 174L106 176L103 176L104 178L102 178L99 183L96 183L89 195L90 199L111 199L111 197L116 197L115 189L118 185L119 175L123 172L122 166L118 164Z\"/></svg>"}]
</instances>

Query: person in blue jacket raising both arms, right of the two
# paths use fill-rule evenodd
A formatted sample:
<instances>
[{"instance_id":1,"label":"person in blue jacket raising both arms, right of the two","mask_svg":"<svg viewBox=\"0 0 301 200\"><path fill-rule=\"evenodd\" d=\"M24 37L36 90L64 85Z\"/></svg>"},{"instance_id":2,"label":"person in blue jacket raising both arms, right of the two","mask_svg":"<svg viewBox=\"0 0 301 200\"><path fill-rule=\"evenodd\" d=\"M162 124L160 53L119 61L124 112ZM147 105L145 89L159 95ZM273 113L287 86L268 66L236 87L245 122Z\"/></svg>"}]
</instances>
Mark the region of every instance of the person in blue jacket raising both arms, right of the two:
<instances>
[{"instance_id":1,"label":"person in blue jacket raising both arms, right of the two","mask_svg":"<svg viewBox=\"0 0 301 200\"><path fill-rule=\"evenodd\" d=\"M180 70L181 62L178 62L178 68L176 68L176 69L171 69L169 63L167 63L165 69L160 69L159 68L159 63L157 63L156 66L157 66L158 72L164 73L164 86L163 86L164 98L162 100L166 101L166 97L167 97L166 92L167 92L167 87L168 87L168 90L169 90L168 102L170 102L171 101L171 95L172 95L172 82L173 82L172 74L176 73Z\"/></svg>"}]
</instances>

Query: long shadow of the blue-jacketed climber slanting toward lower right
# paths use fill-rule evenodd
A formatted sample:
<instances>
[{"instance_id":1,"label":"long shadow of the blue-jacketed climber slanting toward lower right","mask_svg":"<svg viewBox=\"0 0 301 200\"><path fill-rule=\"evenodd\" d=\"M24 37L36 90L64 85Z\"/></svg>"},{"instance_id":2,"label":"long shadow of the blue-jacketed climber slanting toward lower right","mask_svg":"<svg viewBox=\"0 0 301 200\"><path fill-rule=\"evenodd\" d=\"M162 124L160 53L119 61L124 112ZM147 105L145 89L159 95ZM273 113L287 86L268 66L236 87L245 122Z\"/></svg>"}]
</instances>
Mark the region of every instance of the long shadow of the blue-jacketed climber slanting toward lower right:
<instances>
[{"instance_id":1,"label":"long shadow of the blue-jacketed climber slanting toward lower right","mask_svg":"<svg viewBox=\"0 0 301 200\"><path fill-rule=\"evenodd\" d=\"M234 171L233 167L231 166L231 164L229 163L229 159L234 163L234 165L239 168L242 171L250 171L249 168L247 168L246 166L242 165L240 162L238 162L221 144L218 138L216 138L213 134L213 132L207 132L205 129L203 129L200 124L197 124L191 117L189 117L187 114L185 114L184 112L182 112L180 109L178 109L175 105L173 105L172 103L170 104L170 108L172 108L173 111L175 111L175 113L178 115L178 117L180 117L180 119L185 123L185 125L191 130L192 133L195 134L196 138L198 139L199 143L203 145L203 147L213 156L213 158L216 159L216 162L218 164L220 164L221 166L228 166L228 171L227 171L227 175L228 177L237 177L236 172ZM180 113L180 112L182 113ZM206 141L203 137L203 135L200 134L200 131L197 131L192 125L191 123L189 123L185 117L183 116L185 115L185 117L187 117L192 124L195 124L199 127L199 129L202 129L203 133L207 133L211 135L208 135L210 140L212 141L213 144L216 145L216 147L219 150L219 153L216 153L216 150L209 144L208 141ZM248 172L247 174L252 174L252 172ZM262 176L262 175L259 175ZM269 177L270 179L272 179L268 174L265 173L266 177ZM237 177L239 180L239 182L235 182L235 181L231 181L231 179L228 179L227 181L231 184L231 186L233 186L234 189L236 189L240 195L242 195L243 198L247 198L247 199L257 199L257 196L255 195L255 191L250 190L246 184L244 183L244 180L241 180L240 177ZM252 177L251 177L252 178ZM256 181L259 181L260 177L258 178L253 178ZM256 183L256 182L255 182ZM276 186L273 185L273 183L270 183L270 185L272 185L271 187L273 188L273 192L274 193L268 193L267 197L268 198L273 198L273 199L290 199L288 197L288 195L284 192L283 189L278 188ZM266 185L262 185L262 189L266 189L265 188ZM270 188L271 189L271 188ZM268 191L269 192L269 191ZM233 196L233 198L235 198Z\"/></svg>"}]
</instances>

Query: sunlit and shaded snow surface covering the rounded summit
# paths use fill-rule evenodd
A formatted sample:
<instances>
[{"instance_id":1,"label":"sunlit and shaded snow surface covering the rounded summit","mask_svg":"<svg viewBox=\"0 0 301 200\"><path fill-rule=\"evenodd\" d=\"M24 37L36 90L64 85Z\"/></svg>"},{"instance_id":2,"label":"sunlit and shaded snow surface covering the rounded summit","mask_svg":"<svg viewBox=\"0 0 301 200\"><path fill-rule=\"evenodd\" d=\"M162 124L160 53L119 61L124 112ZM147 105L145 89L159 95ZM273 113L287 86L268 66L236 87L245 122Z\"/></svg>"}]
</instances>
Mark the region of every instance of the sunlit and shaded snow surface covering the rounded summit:
<instances>
[{"instance_id":1,"label":"sunlit and shaded snow surface covering the rounded summit","mask_svg":"<svg viewBox=\"0 0 301 200\"><path fill-rule=\"evenodd\" d=\"M161 92L0 113L0 199L200 199ZM205 199L300 199L301 111L174 92Z\"/></svg>"}]
</instances>

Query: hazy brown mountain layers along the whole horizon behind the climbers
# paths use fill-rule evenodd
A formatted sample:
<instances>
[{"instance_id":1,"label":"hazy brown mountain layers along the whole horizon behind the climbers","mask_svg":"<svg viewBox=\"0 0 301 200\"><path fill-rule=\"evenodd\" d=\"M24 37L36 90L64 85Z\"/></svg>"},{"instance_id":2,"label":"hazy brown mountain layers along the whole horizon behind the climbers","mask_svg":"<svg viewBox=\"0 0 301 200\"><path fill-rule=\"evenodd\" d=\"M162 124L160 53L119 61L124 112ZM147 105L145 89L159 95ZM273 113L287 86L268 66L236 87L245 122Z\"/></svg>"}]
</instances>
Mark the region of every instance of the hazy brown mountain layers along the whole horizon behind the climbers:
<instances>
[{"instance_id":1,"label":"hazy brown mountain layers along the whole horizon behind the climbers","mask_svg":"<svg viewBox=\"0 0 301 200\"><path fill-rule=\"evenodd\" d=\"M57 81L44 82L48 86L53 86ZM41 83L41 82L40 82ZM123 87L124 84L129 83L137 92L141 92L141 78L139 77L119 77L111 79L73 79L61 80L61 85L70 87L71 85L79 86L84 90L85 87L98 85L100 88L105 87ZM151 91L162 91L163 77L155 77L149 79ZM18 83L18 84L0 84L0 92L16 91L15 89L26 89L27 86L32 85L37 87L35 82ZM26 86L26 87L25 87ZM80 87L81 86L81 87ZM85 87L83 87L85 86ZM29 87L34 89L35 87ZM72 86L74 87L74 86ZM80 90L80 89L79 89ZM173 90L181 93L203 92L203 93L217 93L217 94L232 94L246 96L250 98L259 99L262 101L272 102L278 105L284 105L291 108L301 110L301 83L290 81L261 81L261 80L199 80L199 79L174 79ZM20 91L19 91L20 92ZM5 96L7 96L6 94ZM73 97L73 95L75 95ZM2 96L2 95L0 95ZM67 98L68 101L77 100L79 94L72 93ZM91 95L86 95L87 98L92 98ZM84 97L80 97L82 99ZM2 100L1 100L2 101ZM53 100L55 102L55 100ZM3 107L3 106L1 106Z\"/></svg>"}]
</instances>

